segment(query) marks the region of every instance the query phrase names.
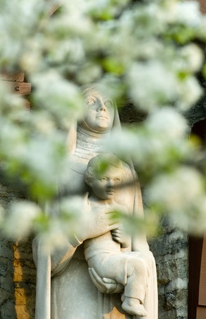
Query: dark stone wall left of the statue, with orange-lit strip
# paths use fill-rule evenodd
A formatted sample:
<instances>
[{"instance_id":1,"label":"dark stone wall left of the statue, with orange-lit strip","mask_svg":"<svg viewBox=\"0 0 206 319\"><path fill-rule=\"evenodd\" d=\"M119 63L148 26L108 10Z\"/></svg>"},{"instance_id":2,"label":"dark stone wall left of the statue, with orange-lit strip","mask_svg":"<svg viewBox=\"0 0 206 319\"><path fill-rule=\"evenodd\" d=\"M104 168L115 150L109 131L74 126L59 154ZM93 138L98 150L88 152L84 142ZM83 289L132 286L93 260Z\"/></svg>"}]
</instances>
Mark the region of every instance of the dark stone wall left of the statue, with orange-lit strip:
<instances>
[{"instance_id":1,"label":"dark stone wall left of the statue, with orange-lit strip","mask_svg":"<svg viewBox=\"0 0 206 319\"><path fill-rule=\"evenodd\" d=\"M22 198L18 190L0 184L0 203ZM0 319L34 319L36 270L32 242L14 243L0 234Z\"/></svg>"}]
</instances>

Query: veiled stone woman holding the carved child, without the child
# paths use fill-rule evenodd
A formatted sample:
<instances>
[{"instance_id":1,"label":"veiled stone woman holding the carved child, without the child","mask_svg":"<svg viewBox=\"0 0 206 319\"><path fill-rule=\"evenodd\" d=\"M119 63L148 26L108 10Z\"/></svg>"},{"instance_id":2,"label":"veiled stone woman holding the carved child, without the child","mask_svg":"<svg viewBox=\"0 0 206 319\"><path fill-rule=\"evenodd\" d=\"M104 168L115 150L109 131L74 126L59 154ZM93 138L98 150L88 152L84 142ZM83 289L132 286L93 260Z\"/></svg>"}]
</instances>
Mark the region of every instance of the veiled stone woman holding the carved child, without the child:
<instances>
[{"instance_id":1,"label":"veiled stone woman holding the carved child, without the child","mask_svg":"<svg viewBox=\"0 0 206 319\"><path fill-rule=\"evenodd\" d=\"M84 173L89 160L100 153L107 153L106 140L113 131L121 130L115 102L103 87L96 84L87 85L82 87L82 94L85 99L85 113L82 121L69 132L70 165L68 172L65 172L59 181L60 196L76 194L83 197L89 192L89 186L84 183ZM123 162L123 166L124 183L127 186L115 190L115 202L127 212L144 217L141 191L133 164L128 161ZM38 240L38 237L34 239L33 255L37 268L36 319L141 318L128 314L127 307L126 311L122 308L120 292L126 287L123 287L121 280L118 281L113 276L103 276L95 267L89 267L88 271L88 263L84 257L87 240L108 232L111 232L113 238L120 238L119 223L113 219L108 222L107 215L102 214L99 206L95 214L89 214L81 235L68 239L67 245L54 251L51 256L44 254L41 240ZM147 272L146 285L144 284L143 288L146 290L145 296L137 296L141 305L144 299L141 309L145 311L142 314L144 318L157 319L155 259L148 248L146 236L139 234L126 245L128 247L124 247L122 243L121 251L137 252L138 261L144 265L144 272Z\"/></svg>"}]
</instances>

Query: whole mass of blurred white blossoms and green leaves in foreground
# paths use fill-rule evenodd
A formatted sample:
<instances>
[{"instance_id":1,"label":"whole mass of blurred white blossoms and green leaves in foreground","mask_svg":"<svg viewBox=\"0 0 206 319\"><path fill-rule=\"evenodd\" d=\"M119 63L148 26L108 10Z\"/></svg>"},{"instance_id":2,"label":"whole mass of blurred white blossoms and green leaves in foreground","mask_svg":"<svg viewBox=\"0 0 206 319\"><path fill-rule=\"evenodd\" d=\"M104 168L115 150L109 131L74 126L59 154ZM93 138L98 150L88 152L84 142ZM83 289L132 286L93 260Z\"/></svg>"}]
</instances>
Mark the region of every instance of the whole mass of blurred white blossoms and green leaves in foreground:
<instances>
[{"instance_id":1,"label":"whole mass of blurred white blossoms and green leaves in foreground","mask_svg":"<svg viewBox=\"0 0 206 319\"><path fill-rule=\"evenodd\" d=\"M59 8L51 16L55 5ZM146 172L154 207L174 218L181 212L179 225L193 231L192 223L199 223L205 212L205 184L195 166L185 165L192 163L198 146L188 140L183 113L203 94L196 73L203 68L204 52L197 43L206 41L206 18L198 1L76 0L57 5L52 0L0 0L0 27L0 69L25 71L33 88L32 109L25 111L23 98L1 81L1 169L21 179L30 194L30 200L12 203L8 216L1 214L5 232L15 234L22 221L21 234L35 225L48 242L56 241L52 233L63 241L65 219L44 219L41 210L54 201L57 177L69 165L67 131L83 112L79 87L92 82L104 83L117 100L126 97L148 113L144 123L126 128L108 144ZM43 203L41 210L36 198ZM80 216L82 210L72 203L62 203L67 229L77 223L73 211Z\"/></svg>"}]
</instances>

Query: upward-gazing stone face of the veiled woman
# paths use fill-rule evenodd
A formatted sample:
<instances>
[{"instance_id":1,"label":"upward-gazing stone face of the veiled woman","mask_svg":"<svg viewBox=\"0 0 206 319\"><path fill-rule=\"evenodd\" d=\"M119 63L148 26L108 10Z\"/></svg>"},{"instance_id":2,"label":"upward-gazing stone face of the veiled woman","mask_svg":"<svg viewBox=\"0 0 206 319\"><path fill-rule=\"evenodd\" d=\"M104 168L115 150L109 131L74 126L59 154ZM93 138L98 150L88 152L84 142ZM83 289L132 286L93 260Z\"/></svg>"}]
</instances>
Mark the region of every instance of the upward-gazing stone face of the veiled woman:
<instances>
[{"instance_id":1,"label":"upward-gazing stone face of the veiled woman","mask_svg":"<svg viewBox=\"0 0 206 319\"><path fill-rule=\"evenodd\" d=\"M85 94L85 112L82 126L91 131L106 132L113 126L115 109L113 102L95 90Z\"/></svg>"}]
</instances>

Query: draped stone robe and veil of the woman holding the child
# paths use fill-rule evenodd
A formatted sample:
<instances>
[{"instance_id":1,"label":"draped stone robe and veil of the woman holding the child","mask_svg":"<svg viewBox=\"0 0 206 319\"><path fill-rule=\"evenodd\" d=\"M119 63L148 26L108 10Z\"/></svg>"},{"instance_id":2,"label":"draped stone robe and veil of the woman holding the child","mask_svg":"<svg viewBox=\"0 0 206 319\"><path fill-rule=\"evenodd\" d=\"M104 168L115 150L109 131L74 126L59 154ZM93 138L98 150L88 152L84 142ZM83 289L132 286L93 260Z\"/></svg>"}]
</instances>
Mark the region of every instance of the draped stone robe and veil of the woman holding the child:
<instances>
[{"instance_id":1,"label":"draped stone robe and veil of the woman holding the child","mask_svg":"<svg viewBox=\"0 0 206 319\"><path fill-rule=\"evenodd\" d=\"M113 130L119 129L119 116L115 110ZM110 132L112 133L112 132ZM110 134L109 133L109 134ZM106 134L108 137L109 134ZM69 133L69 148L72 153L68 172L59 182L60 193L84 195L87 186L84 184L84 171L91 157L106 151L103 147L104 134L93 134L81 127L72 128ZM131 163L124 164L128 181L133 184L117 192L115 201L126 206L133 214L143 216L141 191L136 173ZM35 248L36 249L36 248ZM37 267L36 319L132 319L121 305L121 294L103 294L91 281L87 261L84 259L83 247L78 239L70 241L62 252L43 256L41 244L34 252ZM144 307L148 312L146 319L157 319L157 274L155 259L148 248L146 236L132 239L129 250L145 254L150 276ZM51 281L50 281L51 278ZM43 282L42 282L43 281ZM138 289L138 287L137 287ZM51 298L51 300L50 300Z\"/></svg>"}]
</instances>

